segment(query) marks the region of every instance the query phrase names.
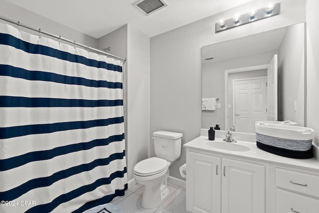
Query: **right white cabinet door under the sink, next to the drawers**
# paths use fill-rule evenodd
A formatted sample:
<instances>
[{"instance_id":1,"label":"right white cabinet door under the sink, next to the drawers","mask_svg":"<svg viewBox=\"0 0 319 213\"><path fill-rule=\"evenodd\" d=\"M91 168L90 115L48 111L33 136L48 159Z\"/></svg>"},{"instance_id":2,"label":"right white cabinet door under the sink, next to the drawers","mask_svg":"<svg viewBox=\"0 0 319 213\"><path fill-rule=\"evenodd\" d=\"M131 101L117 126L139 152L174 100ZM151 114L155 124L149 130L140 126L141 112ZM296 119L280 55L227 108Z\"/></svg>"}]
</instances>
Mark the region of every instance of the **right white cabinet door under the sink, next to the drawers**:
<instances>
[{"instance_id":1,"label":"right white cabinet door under the sink, next to the drawers","mask_svg":"<svg viewBox=\"0 0 319 213\"><path fill-rule=\"evenodd\" d=\"M222 159L222 213L265 213L265 166Z\"/></svg>"}]
</instances>

